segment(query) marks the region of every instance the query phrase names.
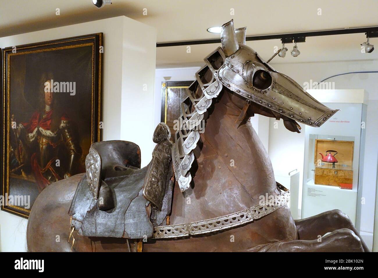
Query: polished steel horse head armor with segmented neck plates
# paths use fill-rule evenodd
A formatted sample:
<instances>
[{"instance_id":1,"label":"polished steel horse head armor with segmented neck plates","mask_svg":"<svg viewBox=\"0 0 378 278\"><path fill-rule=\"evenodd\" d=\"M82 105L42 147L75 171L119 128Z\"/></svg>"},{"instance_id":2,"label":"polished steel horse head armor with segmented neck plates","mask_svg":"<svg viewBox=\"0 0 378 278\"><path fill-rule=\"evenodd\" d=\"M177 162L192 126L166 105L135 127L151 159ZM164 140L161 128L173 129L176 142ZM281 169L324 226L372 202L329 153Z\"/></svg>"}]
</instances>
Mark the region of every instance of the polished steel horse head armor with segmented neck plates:
<instances>
[{"instance_id":1,"label":"polished steel horse head armor with segmented neck plates","mask_svg":"<svg viewBox=\"0 0 378 278\"><path fill-rule=\"evenodd\" d=\"M242 113L254 102L271 110L276 118L314 127L321 126L338 111L324 106L293 79L274 70L256 51L245 45L245 34L246 27L235 29L233 20L222 26L222 47L204 59L206 65L195 74L189 96L181 104L183 114L172 146L175 175L181 191L191 182L189 169L194 160L193 149L200 138L198 126L212 99L222 90L245 98ZM244 116L241 114L239 119Z\"/></svg>"}]
</instances>

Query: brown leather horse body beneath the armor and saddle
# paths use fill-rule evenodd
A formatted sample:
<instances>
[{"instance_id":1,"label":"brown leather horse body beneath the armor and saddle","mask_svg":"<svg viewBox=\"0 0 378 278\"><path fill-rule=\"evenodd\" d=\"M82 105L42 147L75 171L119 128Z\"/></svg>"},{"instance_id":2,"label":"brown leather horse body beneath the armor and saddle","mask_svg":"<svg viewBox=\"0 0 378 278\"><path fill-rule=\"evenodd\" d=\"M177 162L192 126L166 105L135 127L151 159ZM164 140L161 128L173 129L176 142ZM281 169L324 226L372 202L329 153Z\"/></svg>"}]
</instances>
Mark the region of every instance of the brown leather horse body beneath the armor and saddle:
<instances>
[{"instance_id":1,"label":"brown leather horse body beneath the armor and saddle","mask_svg":"<svg viewBox=\"0 0 378 278\"><path fill-rule=\"evenodd\" d=\"M229 26L229 23L226 25ZM227 47L225 43L225 50ZM212 98L211 106L207 106L206 128L200 134L196 147L192 149L196 159L188 172L191 175L191 183L183 189L186 184L176 181L172 208L170 214L168 213L169 217L165 219L168 225L212 219L248 210L259 205L262 196L280 194L268 154L249 118L254 113L282 118L285 127L296 132L299 131L298 125L290 118L290 114L283 115L270 110L266 107L268 104L261 106L255 101L251 105L246 105L245 97L240 92L235 93L228 89L227 84L225 83L226 86L217 93L216 98ZM261 92L263 94L263 91ZM314 104L310 106L315 107ZM315 108L319 110L318 107ZM298 113L298 119L301 119L299 115L302 113ZM315 125L316 122L308 124ZM88 237L79 235L77 230L69 229L68 211L83 175L75 175L53 183L37 197L29 216L28 250L141 250L138 248L141 247L141 239L127 239L127 236ZM325 235L326 233L329 234ZM56 242L56 235L60 235L59 242ZM321 242L318 241L319 236L322 236ZM75 239L74 244L72 237ZM147 238L143 243L143 251L363 252L368 251L368 248L349 217L339 210L294 221L290 210L282 206L252 222L222 231L174 240Z\"/></svg>"}]
</instances>

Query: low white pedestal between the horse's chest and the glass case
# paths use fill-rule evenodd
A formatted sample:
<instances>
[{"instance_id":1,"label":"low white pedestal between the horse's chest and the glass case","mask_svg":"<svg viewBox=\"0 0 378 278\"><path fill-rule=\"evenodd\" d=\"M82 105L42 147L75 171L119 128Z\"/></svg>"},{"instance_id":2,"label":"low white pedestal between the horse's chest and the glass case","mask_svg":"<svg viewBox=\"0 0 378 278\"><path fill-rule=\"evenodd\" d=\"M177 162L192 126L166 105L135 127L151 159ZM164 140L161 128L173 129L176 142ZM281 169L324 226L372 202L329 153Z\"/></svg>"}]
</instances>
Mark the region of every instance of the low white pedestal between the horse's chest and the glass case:
<instances>
[{"instance_id":1,"label":"low white pedestal between the horse's chest and the glass case","mask_svg":"<svg viewBox=\"0 0 378 278\"><path fill-rule=\"evenodd\" d=\"M290 190L290 212L293 219L299 219L299 172L292 171L288 175L274 175L277 182Z\"/></svg>"}]
</instances>

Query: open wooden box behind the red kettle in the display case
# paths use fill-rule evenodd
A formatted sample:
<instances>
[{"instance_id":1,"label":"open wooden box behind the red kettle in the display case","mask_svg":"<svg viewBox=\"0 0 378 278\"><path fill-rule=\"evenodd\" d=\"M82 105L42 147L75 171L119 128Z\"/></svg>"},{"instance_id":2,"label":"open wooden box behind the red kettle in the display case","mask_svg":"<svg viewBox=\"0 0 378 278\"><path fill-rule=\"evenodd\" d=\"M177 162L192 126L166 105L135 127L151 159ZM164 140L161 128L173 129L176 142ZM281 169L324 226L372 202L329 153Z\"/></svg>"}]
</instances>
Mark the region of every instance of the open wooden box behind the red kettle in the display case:
<instances>
[{"instance_id":1,"label":"open wooden box behind the red kettle in the display case","mask_svg":"<svg viewBox=\"0 0 378 278\"><path fill-rule=\"evenodd\" d=\"M353 183L353 141L341 140L315 140L315 175L314 182L318 185L340 186L343 184ZM335 158L338 160L333 168L332 163L322 162L322 153L327 155L326 151L335 150L338 154ZM333 153L334 154L334 153Z\"/></svg>"}]
</instances>

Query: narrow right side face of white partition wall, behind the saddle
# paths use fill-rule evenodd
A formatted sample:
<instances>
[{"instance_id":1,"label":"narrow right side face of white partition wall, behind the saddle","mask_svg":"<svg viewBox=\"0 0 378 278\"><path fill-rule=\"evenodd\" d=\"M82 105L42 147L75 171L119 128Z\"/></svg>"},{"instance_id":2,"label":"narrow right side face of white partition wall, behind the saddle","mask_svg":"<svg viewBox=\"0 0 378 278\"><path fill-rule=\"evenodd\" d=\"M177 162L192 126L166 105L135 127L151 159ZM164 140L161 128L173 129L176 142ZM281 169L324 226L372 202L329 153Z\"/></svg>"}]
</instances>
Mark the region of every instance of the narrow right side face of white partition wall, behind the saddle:
<instances>
[{"instance_id":1,"label":"narrow right side face of white partition wall, behind the saddle","mask_svg":"<svg viewBox=\"0 0 378 278\"><path fill-rule=\"evenodd\" d=\"M121 139L141 148L141 166L152 158L156 30L124 17L122 42ZM116 100L116 101L119 101ZM109 107L110 108L110 107Z\"/></svg>"}]
</instances>

